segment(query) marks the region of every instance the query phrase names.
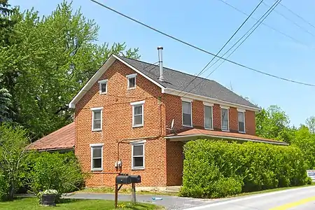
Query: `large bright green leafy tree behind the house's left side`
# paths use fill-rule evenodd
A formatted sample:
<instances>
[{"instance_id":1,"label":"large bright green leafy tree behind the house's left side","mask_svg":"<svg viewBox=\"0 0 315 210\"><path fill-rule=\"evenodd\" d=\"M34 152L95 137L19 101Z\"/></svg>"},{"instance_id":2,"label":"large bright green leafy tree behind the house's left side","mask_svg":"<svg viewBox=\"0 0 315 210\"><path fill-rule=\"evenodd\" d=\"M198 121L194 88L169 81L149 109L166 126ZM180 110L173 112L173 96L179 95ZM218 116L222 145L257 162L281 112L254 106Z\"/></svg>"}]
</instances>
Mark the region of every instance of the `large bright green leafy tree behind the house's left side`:
<instances>
[{"instance_id":1,"label":"large bright green leafy tree behind the house's left side","mask_svg":"<svg viewBox=\"0 0 315 210\"><path fill-rule=\"evenodd\" d=\"M109 55L139 59L138 49L125 43L97 44L99 27L65 1L46 17L27 10L15 19L15 44L0 47L0 72L10 75L14 120L34 139L71 122L66 104Z\"/></svg>"}]
</instances>

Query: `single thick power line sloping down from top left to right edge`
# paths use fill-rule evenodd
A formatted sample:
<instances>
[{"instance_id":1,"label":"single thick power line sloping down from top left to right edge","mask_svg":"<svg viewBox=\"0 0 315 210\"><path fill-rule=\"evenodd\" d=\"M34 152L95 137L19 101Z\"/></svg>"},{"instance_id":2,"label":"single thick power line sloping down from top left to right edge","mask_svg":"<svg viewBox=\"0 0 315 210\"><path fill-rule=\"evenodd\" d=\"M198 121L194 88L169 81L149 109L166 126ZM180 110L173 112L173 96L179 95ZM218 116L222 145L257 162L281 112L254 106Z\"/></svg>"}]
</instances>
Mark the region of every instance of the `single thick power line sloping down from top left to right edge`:
<instances>
[{"instance_id":1,"label":"single thick power line sloping down from top left to right edge","mask_svg":"<svg viewBox=\"0 0 315 210\"><path fill-rule=\"evenodd\" d=\"M297 83L297 84L300 84L300 85L307 85L307 86L315 87L314 84L302 83L302 82L299 82L299 81L290 80L290 79L287 79L287 78L282 78L282 77L280 77L280 76L274 76L274 75L272 75L272 74L270 74L270 73L265 73L265 72L263 72L263 71L259 71L259 70L257 70L257 69L253 69L253 68L251 68L251 67L245 66L244 64L239 64L239 63L234 62L234 61L232 61L232 60L230 60L230 59L225 59L224 57L215 55L215 54L212 53L212 52L209 52L209 51L207 51L207 50L204 50L204 49L202 49L202 48L199 48L199 47L197 47L197 46L195 46L195 45L193 45L193 44L191 44L191 43L188 43L188 42L186 42L186 41L182 41L182 40L179 39L179 38L176 38L176 37L174 37L174 36L171 36L171 35L169 35L169 34L166 34L166 33L163 32L163 31L160 31L160 30L158 30L158 29L155 29L155 28L153 28L153 27L151 27L151 26L149 26L149 25L146 25L146 24L144 24L143 22L140 22L139 20L135 20L134 18L130 18L129 16L127 16L127 15L125 15L125 14L123 14L123 13L120 13L120 12L118 12L117 10L114 10L113 8L110 8L109 6L105 6L104 4L99 3L98 1L95 1L95 0L90 0L90 1L92 1L92 2L94 2L94 3L97 3L99 6L102 6L102 7L106 8L106 9L108 9L108 10L111 10L111 11L113 11L114 13L117 13L117 14L119 14L119 15L121 15L121 16L123 16L123 17L129 19L129 20L132 20L132 21L134 21L134 22L137 22L139 25L142 25L142 26L144 26L144 27L147 27L148 29L151 29L151 30L153 30L153 31L156 31L156 32L158 32L159 34L162 34L162 35L164 35L164 36L167 36L167 37L169 37L169 38L172 38L172 39L174 39L175 41L179 41L180 43L183 43L183 44L185 44L185 45L188 45L188 46L190 46L191 48L195 48L196 50L200 50L201 52L205 52L205 53L207 53L207 54L209 54L209 55L213 55L213 56L215 56L215 57L224 59L225 61L230 62L231 64L235 64L235 65L237 65L237 66L241 66L241 67L243 67L243 68L245 68L245 69L249 69L249 70L251 70L251 71L255 71L255 72L258 72L258 73L262 73L262 74L265 74L265 75L267 75L267 76L272 76L272 77L274 77L274 78L278 78L278 79L281 79L281 80L286 80L286 81L291 82L291 83Z\"/></svg>"}]
</instances>

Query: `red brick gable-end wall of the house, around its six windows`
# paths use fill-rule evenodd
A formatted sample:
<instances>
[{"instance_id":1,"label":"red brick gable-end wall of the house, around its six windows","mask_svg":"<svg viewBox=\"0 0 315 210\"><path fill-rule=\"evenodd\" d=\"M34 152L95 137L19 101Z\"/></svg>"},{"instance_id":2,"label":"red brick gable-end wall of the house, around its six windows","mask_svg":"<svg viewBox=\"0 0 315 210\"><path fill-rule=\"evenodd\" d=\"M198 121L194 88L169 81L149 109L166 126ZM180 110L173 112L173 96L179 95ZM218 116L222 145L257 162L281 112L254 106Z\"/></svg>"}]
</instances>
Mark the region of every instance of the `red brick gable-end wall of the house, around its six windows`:
<instances>
[{"instance_id":1,"label":"red brick gable-end wall of the house, around its six windows","mask_svg":"<svg viewBox=\"0 0 315 210\"><path fill-rule=\"evenodd\" d=\"M141 75L137 75L135 90L127 90L126 75L135 73L121 62L114 64L99 78L108 79L107 94L99 94L96 82L76 104L76 155L83 171L90 172L90 144L104 143L103 171L92 172L87 186L113 186L118 160L118 141L125 138L156 137L165 135L165 105L161 89ZM162 97L160 102L159 97ZM132 128L130 102L145 100L144 127ZM90 108L103 106L102 132L92 132ZM161 126L162 125L162 126ZM162 127L162 133L161 133ZM123 173L142 176L141 185L166 186L166 140L148 139L145 143L145 169L131 170L130 144L120 144L119 158L123 161Z\"/></svg>"}]
</instances>

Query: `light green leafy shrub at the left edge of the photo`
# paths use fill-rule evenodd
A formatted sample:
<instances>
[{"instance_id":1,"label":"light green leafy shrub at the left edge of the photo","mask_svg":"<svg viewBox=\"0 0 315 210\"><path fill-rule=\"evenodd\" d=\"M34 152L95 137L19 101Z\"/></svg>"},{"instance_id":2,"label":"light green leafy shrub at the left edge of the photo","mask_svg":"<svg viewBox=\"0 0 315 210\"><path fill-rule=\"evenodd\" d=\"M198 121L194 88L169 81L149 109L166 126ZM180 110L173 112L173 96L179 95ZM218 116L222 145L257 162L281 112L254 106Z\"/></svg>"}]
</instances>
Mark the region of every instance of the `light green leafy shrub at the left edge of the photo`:
<instances>
[{"instance_id":1,"label":"light green leafy shrub at the left edge of the photo","mask_svg":"<svg viewBox=\"0 0 315 210\"><path fill-rule=\"evenodd\" d=\"M22 186L22 168L29 141L25 130L2 123L0 125L0 200L13 200L15 191Z\"/></svg>"}]
</instances>

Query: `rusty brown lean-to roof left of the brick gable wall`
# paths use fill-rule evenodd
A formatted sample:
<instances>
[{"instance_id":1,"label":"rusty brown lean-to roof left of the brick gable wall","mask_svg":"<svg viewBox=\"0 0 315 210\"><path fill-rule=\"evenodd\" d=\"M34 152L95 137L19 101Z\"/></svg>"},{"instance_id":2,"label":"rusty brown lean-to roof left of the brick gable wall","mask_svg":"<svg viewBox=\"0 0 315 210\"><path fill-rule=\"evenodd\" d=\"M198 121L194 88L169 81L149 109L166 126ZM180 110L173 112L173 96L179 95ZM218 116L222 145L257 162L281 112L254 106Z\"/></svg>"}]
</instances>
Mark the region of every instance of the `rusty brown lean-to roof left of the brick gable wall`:
<instances>
[{"instance_id":1,"label":"rusty brown lean-to roof left of the brick gable wall","mask_svg":"<svg viewBox=\"0 0 315 210\"><path fill-rule=\"evenodd\" d=\"M75 125L70 123L47 136L34 141L29 150L54 151L74 148Z\"/></svg>"}]
</instances>

